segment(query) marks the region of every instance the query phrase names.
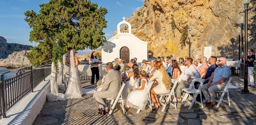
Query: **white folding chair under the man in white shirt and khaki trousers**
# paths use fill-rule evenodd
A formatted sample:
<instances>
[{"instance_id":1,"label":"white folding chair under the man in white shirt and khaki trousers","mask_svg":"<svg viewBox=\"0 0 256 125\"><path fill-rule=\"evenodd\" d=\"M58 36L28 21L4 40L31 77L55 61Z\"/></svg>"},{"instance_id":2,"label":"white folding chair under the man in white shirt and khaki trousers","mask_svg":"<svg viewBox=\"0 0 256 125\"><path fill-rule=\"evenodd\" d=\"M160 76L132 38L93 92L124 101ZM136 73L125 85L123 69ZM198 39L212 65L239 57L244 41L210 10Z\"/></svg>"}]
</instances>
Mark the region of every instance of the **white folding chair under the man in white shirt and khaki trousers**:
<instances>
[{"instance_id":1,"label":"white folding chair under the man in white shirt and khaki trousers","mask_svg":"<svg viewBox=\"0 0 256 125\"><path fill-rule=\"evenodd\" d=\"M194 83L195 83L195 82L199 82L199 83L200 83L200 86L199 86L198 89L195 89L195 88L192 89L192 87L194 86ZM190 106L189 106L188 109L191 109L194 103L197 103L197 104L201 105L202 108L203 108L202 92L201 92L201 88L202 88L203 82L204 82L204 79L202 79L202 78L196 78L196 79L193 79L193 80L192 80L192 83L190 84L189 88L183 88L183 89L182 89L182 91L186 92L186 94L185 94L185 96L184 96L184 98L183 98L183 100L182 100L182 104L184 104L185 101L186 101L187 103L189 103ZM188 95L189 95L190 93L192 93L192 94L194 95L192 102L190 102L190 101L187 100L187 97L188 97ZM197 102L197 100L196 100L198 94L200 94L201 103Z\"/></svg>"}]
</instances>

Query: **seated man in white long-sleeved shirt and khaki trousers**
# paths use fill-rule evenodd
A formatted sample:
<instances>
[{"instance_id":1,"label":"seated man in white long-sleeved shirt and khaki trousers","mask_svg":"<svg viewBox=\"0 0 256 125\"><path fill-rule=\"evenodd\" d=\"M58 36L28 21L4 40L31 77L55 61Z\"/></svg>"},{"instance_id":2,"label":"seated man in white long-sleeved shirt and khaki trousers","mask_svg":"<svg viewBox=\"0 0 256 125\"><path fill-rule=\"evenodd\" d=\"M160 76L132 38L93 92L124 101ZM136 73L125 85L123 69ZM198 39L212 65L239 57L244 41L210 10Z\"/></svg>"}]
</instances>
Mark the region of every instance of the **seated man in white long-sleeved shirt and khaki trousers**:
<instances>
[{"instance_id":1,"label":"seated man in white long-sleeved shirt and khaki trousers","mask_svg":"<svg viewBox=\"0 0 256 125\"><path fill-rule=\"evenodd\" d=\"M177 100L181 100L181 89L188 88L192 79L200 78L200 73L192 66L193 59L188 57L185 61L185 68L183 69L181 76L178 80L178 87L176 90Z\"/></svg>"}]
</instances>

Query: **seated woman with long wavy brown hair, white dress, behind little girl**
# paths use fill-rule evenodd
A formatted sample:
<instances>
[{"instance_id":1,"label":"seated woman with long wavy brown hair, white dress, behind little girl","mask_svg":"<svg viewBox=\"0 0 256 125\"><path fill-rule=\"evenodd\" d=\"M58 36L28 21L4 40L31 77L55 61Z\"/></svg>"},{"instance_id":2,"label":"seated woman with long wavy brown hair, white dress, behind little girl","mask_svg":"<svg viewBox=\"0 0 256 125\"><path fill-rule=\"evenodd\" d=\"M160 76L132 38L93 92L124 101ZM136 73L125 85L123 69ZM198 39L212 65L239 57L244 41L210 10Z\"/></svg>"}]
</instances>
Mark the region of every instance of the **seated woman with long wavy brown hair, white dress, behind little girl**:
<instances>
[{"instance_id":1,"label":"seated woman with long wavy brown hair, white dress, behind little girl","mask_svg":"<svg viewBox=\"0 0 256 125\"><path fill-rule=\"evenodd\" d=\"M125 78L122 78L123 80L127 80L130 78L129 81L124 82L125 87L122 92L122 98L123 98L123 104L126 103L126 99L128 97L128 89L135 89L139 88L139 82L140 82L140 75L139 75L139 66L137 64L134 64L132 66L132 73L129 73L129 75Z\"/></svg>"}]
</instances>

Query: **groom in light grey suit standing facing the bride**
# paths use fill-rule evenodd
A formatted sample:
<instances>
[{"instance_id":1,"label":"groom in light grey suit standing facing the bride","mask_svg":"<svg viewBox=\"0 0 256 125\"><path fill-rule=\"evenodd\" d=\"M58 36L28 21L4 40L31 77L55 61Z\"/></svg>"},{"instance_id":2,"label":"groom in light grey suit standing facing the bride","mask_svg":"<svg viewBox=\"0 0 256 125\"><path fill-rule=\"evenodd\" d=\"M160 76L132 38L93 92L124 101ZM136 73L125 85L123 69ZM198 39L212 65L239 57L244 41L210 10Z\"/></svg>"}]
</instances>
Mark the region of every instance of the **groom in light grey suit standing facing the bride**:
<instances>
[{"instance_id":1,"label":"groom in light grey suit standing facing the bride","mask_svg":"<svg viewBox=\"0 0 256 125\"><path fill-rule=\"evenodd\" d=\"M69 57L69 55L70 55L70 50L71 50L71 49L72 49L72 47L69 47L69 48L68 48L68 52L62 56L63 65L64 65L64 73L65 73L65 74L63 75L63 77L64 77L64 82L65 82L65 85L64 85L65 90L66 90L66 88L67 88L68 81L69 81L69 67L70 67L70 64L67 63L67 59L68 59L68 57ZM64 92L64 93L65 93L65 92Z\"/></svg>"}]
</instances>

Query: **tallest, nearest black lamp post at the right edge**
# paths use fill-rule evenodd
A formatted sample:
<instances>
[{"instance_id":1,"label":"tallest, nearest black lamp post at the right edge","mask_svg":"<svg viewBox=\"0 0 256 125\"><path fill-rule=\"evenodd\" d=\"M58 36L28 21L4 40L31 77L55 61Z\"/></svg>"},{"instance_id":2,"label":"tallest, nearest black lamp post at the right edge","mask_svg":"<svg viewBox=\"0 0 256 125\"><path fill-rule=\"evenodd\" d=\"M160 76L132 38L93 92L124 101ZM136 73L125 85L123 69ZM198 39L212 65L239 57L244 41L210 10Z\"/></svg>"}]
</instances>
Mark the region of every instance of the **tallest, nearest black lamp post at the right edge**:
<instances>
[{"instance_id":1,"label":"tallest, nearest black lamp post at the right edge","mask_svg":"<svg viewBox=\"0 0 256 125\"><path fill-rule=\"evenodd\" d=\"M245 41L244 41L244 89L242 90L243 93L249 93L249 90L248 90L248 48L247 48L247 44L248 44L248 6L251 2L251 0L242 0L243 2L243 5L244 5L244 17L245 17L245 20L244 20L244 35L245 35Z\"/></svg>"}]
</instances>

